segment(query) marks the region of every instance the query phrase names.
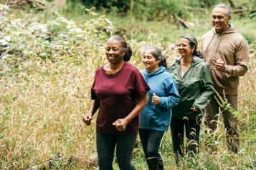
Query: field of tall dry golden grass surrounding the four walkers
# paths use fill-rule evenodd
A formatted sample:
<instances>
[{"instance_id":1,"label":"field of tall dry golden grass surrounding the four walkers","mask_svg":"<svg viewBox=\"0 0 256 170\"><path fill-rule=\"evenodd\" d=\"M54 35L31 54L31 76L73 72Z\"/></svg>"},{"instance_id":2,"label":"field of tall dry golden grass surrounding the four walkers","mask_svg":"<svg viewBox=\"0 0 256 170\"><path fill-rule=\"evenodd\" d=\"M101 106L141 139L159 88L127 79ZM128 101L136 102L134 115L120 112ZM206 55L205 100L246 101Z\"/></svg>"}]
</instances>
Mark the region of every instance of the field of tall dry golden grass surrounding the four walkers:
<instances>
[{"instance_id":1,"label":"field of tall dry golden grass surrounding the four walkers","mask_svg":"<svg viewBox=\"0 0 256 170\"><path fill-rule=\"evenodd\" d=\"M133 16L61 14L18 10L1 18L0 169L97 169L90 160L96 154L95 117L85 126L82 115L90 107L94 71L106 61L108 36L125 34L134 51L131 63L143 69L146 44L161 47L170 64L179 36L190 33L200 39L212 28L209 11L191 17L196 24L191 30ZM256 169L256 22L234 16L232 24L250 42L249 70L240 79L239 109L234 112L240 120L241 151L227 150L220 117L216 136L202 133L200 154L179 167L168 131L161 147L166 169ZM216 152L203 145L206 139ZM139 139L133 163L147 169Z\"/></svg>"}]
</instances>

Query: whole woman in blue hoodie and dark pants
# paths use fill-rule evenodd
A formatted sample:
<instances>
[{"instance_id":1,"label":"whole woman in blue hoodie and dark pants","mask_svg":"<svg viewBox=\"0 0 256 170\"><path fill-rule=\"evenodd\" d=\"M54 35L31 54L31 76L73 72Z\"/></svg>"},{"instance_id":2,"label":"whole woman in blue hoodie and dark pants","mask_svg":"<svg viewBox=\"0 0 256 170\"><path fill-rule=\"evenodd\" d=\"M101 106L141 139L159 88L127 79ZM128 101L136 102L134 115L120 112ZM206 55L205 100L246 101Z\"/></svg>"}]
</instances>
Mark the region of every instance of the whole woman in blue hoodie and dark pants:
<instances>
[{"instance_id":1,"label":"whole woman in blue hoodie and dark pants","mask_svg":"<svg viewBox=\"0 0 256 170\"><path fill-rule=\"evenodd\" d=\"M139 135L148 169L163 169L158 150L163 134L169 129L171 107L179 103L179 92L160 49L148 47L143 54L143 65L142 74L151 91L148 91L148 104L141 112Z\"/></svg>"}]
</instances>

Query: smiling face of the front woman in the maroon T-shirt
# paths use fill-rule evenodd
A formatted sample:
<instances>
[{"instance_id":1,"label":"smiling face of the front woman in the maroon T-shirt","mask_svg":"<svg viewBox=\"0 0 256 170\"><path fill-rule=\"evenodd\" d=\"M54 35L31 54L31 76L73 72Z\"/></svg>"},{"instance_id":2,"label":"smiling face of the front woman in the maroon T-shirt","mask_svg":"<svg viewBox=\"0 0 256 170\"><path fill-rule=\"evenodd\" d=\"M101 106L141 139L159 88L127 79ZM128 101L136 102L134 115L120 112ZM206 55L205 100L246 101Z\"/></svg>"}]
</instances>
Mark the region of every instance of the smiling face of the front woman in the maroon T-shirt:
<instances>
[{"instance_id":1,"label":"smiling face of the front woman in the maroon T-shirt","mask_svg":"<svg viewBox=\"0 0 256 170\"><path fill-rule=\"evenodd\" d=\"M125 50L118 40L109 39L105 49L105 54L110 64L120 64L123 61Z\"/></svg>"}]
</instances>

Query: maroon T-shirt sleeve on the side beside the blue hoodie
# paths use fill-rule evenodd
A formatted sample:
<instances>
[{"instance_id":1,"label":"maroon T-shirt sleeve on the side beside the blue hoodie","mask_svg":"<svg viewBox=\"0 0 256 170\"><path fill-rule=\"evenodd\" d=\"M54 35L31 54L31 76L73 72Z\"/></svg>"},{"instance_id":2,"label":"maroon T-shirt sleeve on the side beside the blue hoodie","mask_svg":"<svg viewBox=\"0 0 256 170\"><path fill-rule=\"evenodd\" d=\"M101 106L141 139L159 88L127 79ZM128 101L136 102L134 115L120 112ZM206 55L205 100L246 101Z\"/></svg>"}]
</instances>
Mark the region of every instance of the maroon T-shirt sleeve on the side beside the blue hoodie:
<instances>
[{"instance_id":1,"label":"maroon T-shirt sleeve on the side beside the blue hoodie","mask_svg":"<svg viewBox=\"0 0 256 170\"><path fill-rule=\"evenodd\" d=\"M144 77L141 75L139 71L136 72L135 91L136 91L136 97L139 97L141 94L144 94L150 91L150 87L148 86L146 80L144 79Z\"/></svg>"}]
</instances>

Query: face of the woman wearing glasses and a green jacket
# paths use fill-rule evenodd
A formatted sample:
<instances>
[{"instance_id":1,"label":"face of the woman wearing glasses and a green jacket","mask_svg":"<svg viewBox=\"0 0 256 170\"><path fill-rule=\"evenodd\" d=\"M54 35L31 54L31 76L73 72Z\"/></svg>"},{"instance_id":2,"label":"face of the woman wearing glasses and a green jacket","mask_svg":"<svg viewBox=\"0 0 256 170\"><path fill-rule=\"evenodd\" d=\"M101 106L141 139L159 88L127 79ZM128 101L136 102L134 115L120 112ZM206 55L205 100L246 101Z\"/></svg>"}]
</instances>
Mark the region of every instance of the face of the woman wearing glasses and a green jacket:
<instances>
[{"instance_id":1,"label":"face of the woman wearing glasses and a green jacket","mask_svg":"<svg viewBox=\"0 0 256 170\"><path fill-rule=\"evenodd\" d=\"M189 45L189 40L184 38L181 38L176 46L178 48L178 51L181 57L192 56L192 53L195 49L194 46L191 47Z\"/></svg>"}]
</instances>

